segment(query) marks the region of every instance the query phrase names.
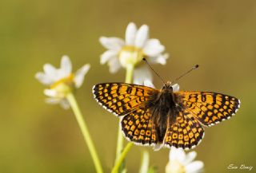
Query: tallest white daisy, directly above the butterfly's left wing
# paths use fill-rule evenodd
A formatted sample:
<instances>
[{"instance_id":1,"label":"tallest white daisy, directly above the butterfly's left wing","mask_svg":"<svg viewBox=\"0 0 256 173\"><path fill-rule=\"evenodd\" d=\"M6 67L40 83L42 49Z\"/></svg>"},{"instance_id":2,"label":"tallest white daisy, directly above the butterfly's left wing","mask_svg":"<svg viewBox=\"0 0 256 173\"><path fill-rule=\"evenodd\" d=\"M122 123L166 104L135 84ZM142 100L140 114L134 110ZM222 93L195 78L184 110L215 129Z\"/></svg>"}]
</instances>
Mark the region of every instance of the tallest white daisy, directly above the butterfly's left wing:
<instances>
[{"instance_id":1,"label":"tallest white daisy, directly above the butterfly's left wing","mask_svg":"<svg viewBox=\"0 0 256 173\"><path fill-rule=\"evenodd\" d=\"M100 37L101 44L108 49L102 53L101 64L110 66L110 73L128 65L136 66L134 69L134 84L142 85L143 81L152 81L150 69L140 63L143 57L151 64L166 65L168 54L162 54L164 45L155 38L149 38L149 27L146 25L137 29L133 22L126 28L125 41L118 37Z\"/></svg>"}]
</instances>

